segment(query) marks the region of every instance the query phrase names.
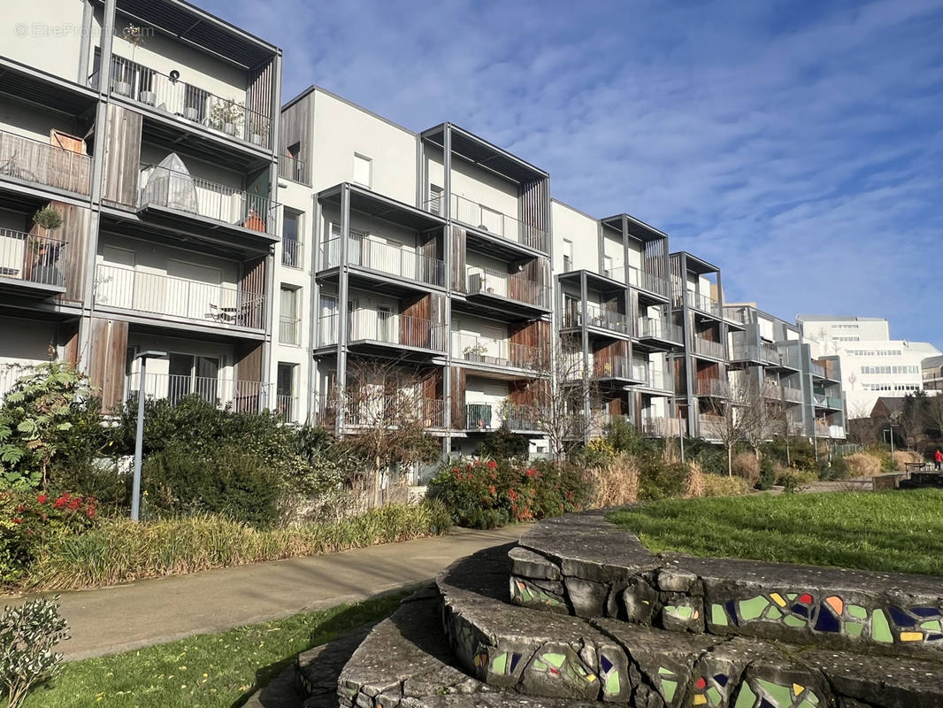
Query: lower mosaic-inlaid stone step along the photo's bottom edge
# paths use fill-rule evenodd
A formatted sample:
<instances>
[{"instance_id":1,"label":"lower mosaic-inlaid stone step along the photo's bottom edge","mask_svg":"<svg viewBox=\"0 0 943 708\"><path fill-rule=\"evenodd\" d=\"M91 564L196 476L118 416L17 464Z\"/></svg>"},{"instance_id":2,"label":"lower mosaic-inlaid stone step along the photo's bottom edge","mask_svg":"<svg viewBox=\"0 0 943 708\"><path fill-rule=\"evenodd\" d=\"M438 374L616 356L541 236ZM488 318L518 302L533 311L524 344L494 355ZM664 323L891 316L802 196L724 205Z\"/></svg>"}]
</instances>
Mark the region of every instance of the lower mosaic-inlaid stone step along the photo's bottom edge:
<instances>
[{"instance_id":1,"label":"lower mosaic-inlaid stone step along the photo's bottom edge","mask_svg":"<svg viewBox=\"0 0 943 708\"><path fill-rule=\"evenodd\" d=\"M510 578L507 550L476 553L437 579L447 641L442 650L451 649L459 673L476 682L463 685L476 692L645 708L943 705L936 662L672 632L512 604L510 585L519 581ZM597 578L610 572L597 567Z\"/></svg>"}]
</instances>

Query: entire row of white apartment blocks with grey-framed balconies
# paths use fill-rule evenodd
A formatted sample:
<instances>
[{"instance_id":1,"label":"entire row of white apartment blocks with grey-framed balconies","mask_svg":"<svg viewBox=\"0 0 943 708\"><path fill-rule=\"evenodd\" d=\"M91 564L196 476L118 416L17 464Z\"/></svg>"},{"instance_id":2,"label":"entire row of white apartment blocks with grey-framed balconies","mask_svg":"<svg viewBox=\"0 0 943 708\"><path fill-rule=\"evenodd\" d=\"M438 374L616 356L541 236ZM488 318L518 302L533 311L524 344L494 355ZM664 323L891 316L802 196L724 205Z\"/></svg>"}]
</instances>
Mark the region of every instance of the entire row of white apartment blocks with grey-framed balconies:
<instances>
[{"instance_id":1,"label":"entire row of white apartment blocks with grey-framed balconies","mask_svg":"<svg viewBox=\"0 0 943 708\"><path fill-rule=\"evenodd\" d=\"M408 391L443 452L506 426L540 454L548 380L588 384L584 438L617 417L710 437L752 376L792 432L838 437L837 363L726 307L720 268L659 229L552 199L451 123L314 86L280 106L280 50L180 0L42 5L81 31L17 8L31 30L0 49L0 388L3 364L58 358L106 408L198 394L340 434ZM33 223L46 207L60 226Z\"/></svg>"}]
</instances>

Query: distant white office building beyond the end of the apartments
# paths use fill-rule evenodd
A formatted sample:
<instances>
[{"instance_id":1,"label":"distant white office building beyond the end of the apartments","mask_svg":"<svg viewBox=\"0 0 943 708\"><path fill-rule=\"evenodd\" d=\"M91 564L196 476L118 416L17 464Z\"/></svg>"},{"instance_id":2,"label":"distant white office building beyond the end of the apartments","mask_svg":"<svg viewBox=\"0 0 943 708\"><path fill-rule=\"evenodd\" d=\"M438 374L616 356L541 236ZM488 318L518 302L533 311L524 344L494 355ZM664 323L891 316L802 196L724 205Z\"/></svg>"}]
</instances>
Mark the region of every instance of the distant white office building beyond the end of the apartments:
<instances>
[{"instance_id":1,"label":"distant white office building beyond the end of the apartments","mask_svg":"<svg viewBox=\"0 0 943 708\"><path fill-rule=\"evenodd\" d=\"M813 357L840 358L850 418L869 415L879 396L923 390L921 364L940 354L928 342L891 339L883 317L801 314L796 321Z\"/></svg>"}]
</instances>

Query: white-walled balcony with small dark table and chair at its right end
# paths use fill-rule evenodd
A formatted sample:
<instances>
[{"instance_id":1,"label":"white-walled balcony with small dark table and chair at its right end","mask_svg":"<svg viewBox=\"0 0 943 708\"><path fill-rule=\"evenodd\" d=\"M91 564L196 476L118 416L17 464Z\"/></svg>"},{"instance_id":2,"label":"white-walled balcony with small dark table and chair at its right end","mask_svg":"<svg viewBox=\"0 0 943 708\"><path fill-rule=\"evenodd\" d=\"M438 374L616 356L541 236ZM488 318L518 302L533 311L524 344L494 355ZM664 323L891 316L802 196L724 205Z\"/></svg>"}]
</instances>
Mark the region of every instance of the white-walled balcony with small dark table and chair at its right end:
<instances>
[{"instance_id":1,"label":"white-walled balcony with small dark table and chair at its right end","mask_svg":"<svg viewBox=\"0 0 943 708\"><path fill-rule=\"evenodd\" d=\"M95 268L95 307L148 312L225 328L265 327L265 295L244 293L232 285L101 263Z\"/></svg>"}]
</instances>

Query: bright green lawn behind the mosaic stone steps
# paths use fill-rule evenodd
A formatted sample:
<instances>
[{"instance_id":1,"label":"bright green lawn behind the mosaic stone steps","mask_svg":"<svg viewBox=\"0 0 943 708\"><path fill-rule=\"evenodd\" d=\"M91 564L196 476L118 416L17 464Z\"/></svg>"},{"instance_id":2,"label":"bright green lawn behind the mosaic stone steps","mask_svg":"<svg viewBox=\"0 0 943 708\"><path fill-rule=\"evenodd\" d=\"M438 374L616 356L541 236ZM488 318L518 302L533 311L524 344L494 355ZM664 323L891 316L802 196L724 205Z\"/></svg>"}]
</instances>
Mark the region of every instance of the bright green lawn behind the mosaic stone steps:
<instances>
[{"instance_id":1,"label":"bright green lawn behind the mosaic stone steps","mask_svg":"<svg viewBox=\"0 0 943 708\"><path fill-rule=\"evenodd\" d=\"M943 490L670 499L608 518L655 552L943 576Z\"/></svg>"}]
</instances>

